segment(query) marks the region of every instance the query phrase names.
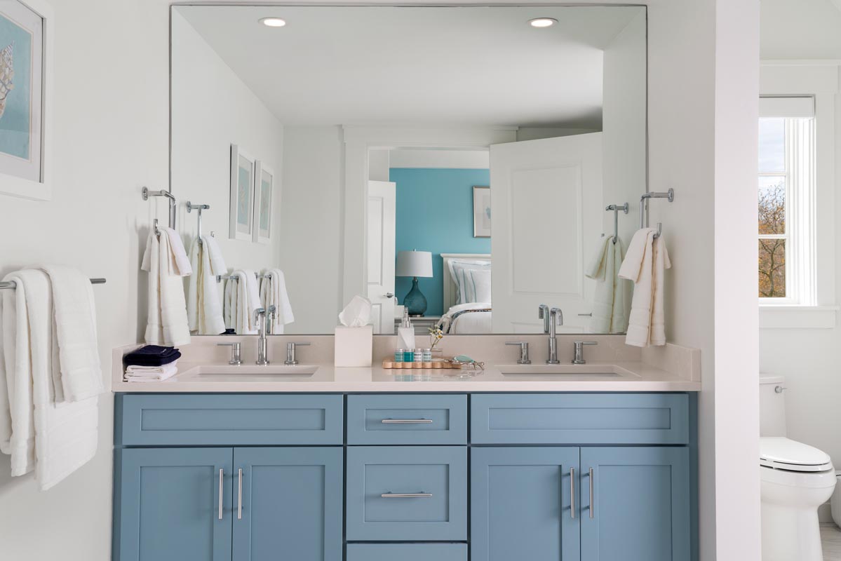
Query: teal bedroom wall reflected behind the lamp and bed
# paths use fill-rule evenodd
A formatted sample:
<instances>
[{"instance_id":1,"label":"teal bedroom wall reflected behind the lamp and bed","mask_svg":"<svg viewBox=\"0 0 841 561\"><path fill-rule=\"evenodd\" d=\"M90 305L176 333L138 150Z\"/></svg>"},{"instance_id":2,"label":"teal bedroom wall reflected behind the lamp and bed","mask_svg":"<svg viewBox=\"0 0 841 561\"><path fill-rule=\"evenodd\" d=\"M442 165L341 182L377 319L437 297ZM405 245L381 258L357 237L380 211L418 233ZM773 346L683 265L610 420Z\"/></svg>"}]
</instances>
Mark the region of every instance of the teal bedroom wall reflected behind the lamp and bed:
<instances>
[{"instance_id":1,"label":"teal bedroom wall reflected behind the lamp and bed","mask_svg":"<svg viewBox=\"0 0 841 561\"><path fill-rule=\"evenodd\" d=\"M434 276L419 278L418 285L428 303L426 315L442 315L441 254L490 253L490 238L473 237L473 185L489 185L490 170L392 167L389 179L397 183L395 249L432 252ZM396 278L399 304L411 288L411 278Z\"/></svg>"}]
</instances>

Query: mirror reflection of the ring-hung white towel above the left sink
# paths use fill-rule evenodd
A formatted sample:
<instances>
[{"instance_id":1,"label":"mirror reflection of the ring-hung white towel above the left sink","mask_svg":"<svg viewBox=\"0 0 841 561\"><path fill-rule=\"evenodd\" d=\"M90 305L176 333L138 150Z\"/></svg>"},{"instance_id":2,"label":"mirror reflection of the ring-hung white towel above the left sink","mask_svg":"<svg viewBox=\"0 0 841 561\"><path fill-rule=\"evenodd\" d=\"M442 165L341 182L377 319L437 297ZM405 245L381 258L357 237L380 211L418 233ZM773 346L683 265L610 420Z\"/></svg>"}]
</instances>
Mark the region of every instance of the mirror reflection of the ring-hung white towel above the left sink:
<instances>
[{"instance_id":1,"label":"mirror reflection of the ring-hung white towel above the left sink","mask_svg":"<svg viewBox=\"0 0 841 561\"><path fill-rule=\"evenodd\" d=\"M198 335L219 335L225 331L225 320L216 275L226 271L214 268L208 239L203 237L203 243L196 239L190 249L193 274L187 289L187 319L190 331Z\"/></svg>"}]
</instances>

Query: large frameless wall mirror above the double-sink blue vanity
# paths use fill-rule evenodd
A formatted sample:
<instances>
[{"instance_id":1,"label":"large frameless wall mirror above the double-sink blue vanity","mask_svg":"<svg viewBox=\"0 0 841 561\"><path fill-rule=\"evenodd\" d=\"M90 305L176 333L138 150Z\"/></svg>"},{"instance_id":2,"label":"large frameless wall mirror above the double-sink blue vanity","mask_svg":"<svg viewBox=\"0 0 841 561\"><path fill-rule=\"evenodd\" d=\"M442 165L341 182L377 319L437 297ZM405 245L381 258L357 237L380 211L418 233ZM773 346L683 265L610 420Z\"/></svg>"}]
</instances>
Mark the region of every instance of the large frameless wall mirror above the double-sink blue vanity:
<instances>
[{"instance_id":1,"label":"large frameless wall mirror above the double-sink blue vanity","mask_svg":"<svg viewBox=\"0 0 841 561\"><path fill-rule=\"evenodd\" d=\"M354 294L383 334L404 308L542 333L540 304L558 332L621 333L646 24L628 6L173 7L172 192L212 203L229 267L283 271L287 334L332 333Z\"/></svg>"}]
</instances>

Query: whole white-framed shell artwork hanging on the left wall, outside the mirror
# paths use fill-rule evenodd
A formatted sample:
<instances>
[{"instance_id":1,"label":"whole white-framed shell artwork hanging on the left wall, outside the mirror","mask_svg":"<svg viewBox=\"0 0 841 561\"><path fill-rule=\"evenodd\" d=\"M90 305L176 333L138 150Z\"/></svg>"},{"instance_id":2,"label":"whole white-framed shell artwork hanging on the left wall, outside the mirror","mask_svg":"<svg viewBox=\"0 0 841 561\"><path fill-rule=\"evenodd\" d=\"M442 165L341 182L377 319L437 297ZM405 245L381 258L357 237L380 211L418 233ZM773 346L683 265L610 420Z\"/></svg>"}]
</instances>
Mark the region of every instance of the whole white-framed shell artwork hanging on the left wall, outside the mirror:
<instances>
[{"instance_id":1,"label":"whole white-framed shell artwork hanging on the left wall, outside the mirror","mask_svg":"<svg viewBox=\"0 0 841 561\"><path fill-rule=\"evenodd\" d=\"M44 0L0 0L0 193L52 196L52 32Z\"/></svg>"}]
</instances>

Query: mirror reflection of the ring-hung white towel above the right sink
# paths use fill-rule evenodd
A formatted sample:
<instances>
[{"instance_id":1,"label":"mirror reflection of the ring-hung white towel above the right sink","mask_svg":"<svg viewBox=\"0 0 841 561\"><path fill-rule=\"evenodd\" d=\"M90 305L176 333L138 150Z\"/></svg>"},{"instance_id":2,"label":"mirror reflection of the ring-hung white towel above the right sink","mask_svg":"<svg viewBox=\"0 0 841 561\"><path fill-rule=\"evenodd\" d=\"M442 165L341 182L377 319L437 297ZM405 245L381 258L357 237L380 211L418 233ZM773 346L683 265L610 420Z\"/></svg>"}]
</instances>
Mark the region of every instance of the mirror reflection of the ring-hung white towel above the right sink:
<instances>
[{"instance_id":1,"label":"mirror reflection of the ring-hung white towel above the right sink","mask_svg":"<svg viewBox=\"0 0 841 561\"><path fill-rule=\"evenodd\" d=\"M621 333L627 325L625 281L616 277L625 257L625 246L620 238L613 243L613 236L600 240L599 251L593 256L585 274L595 283L592 333Z\"/></svg>"}]
</instances>

